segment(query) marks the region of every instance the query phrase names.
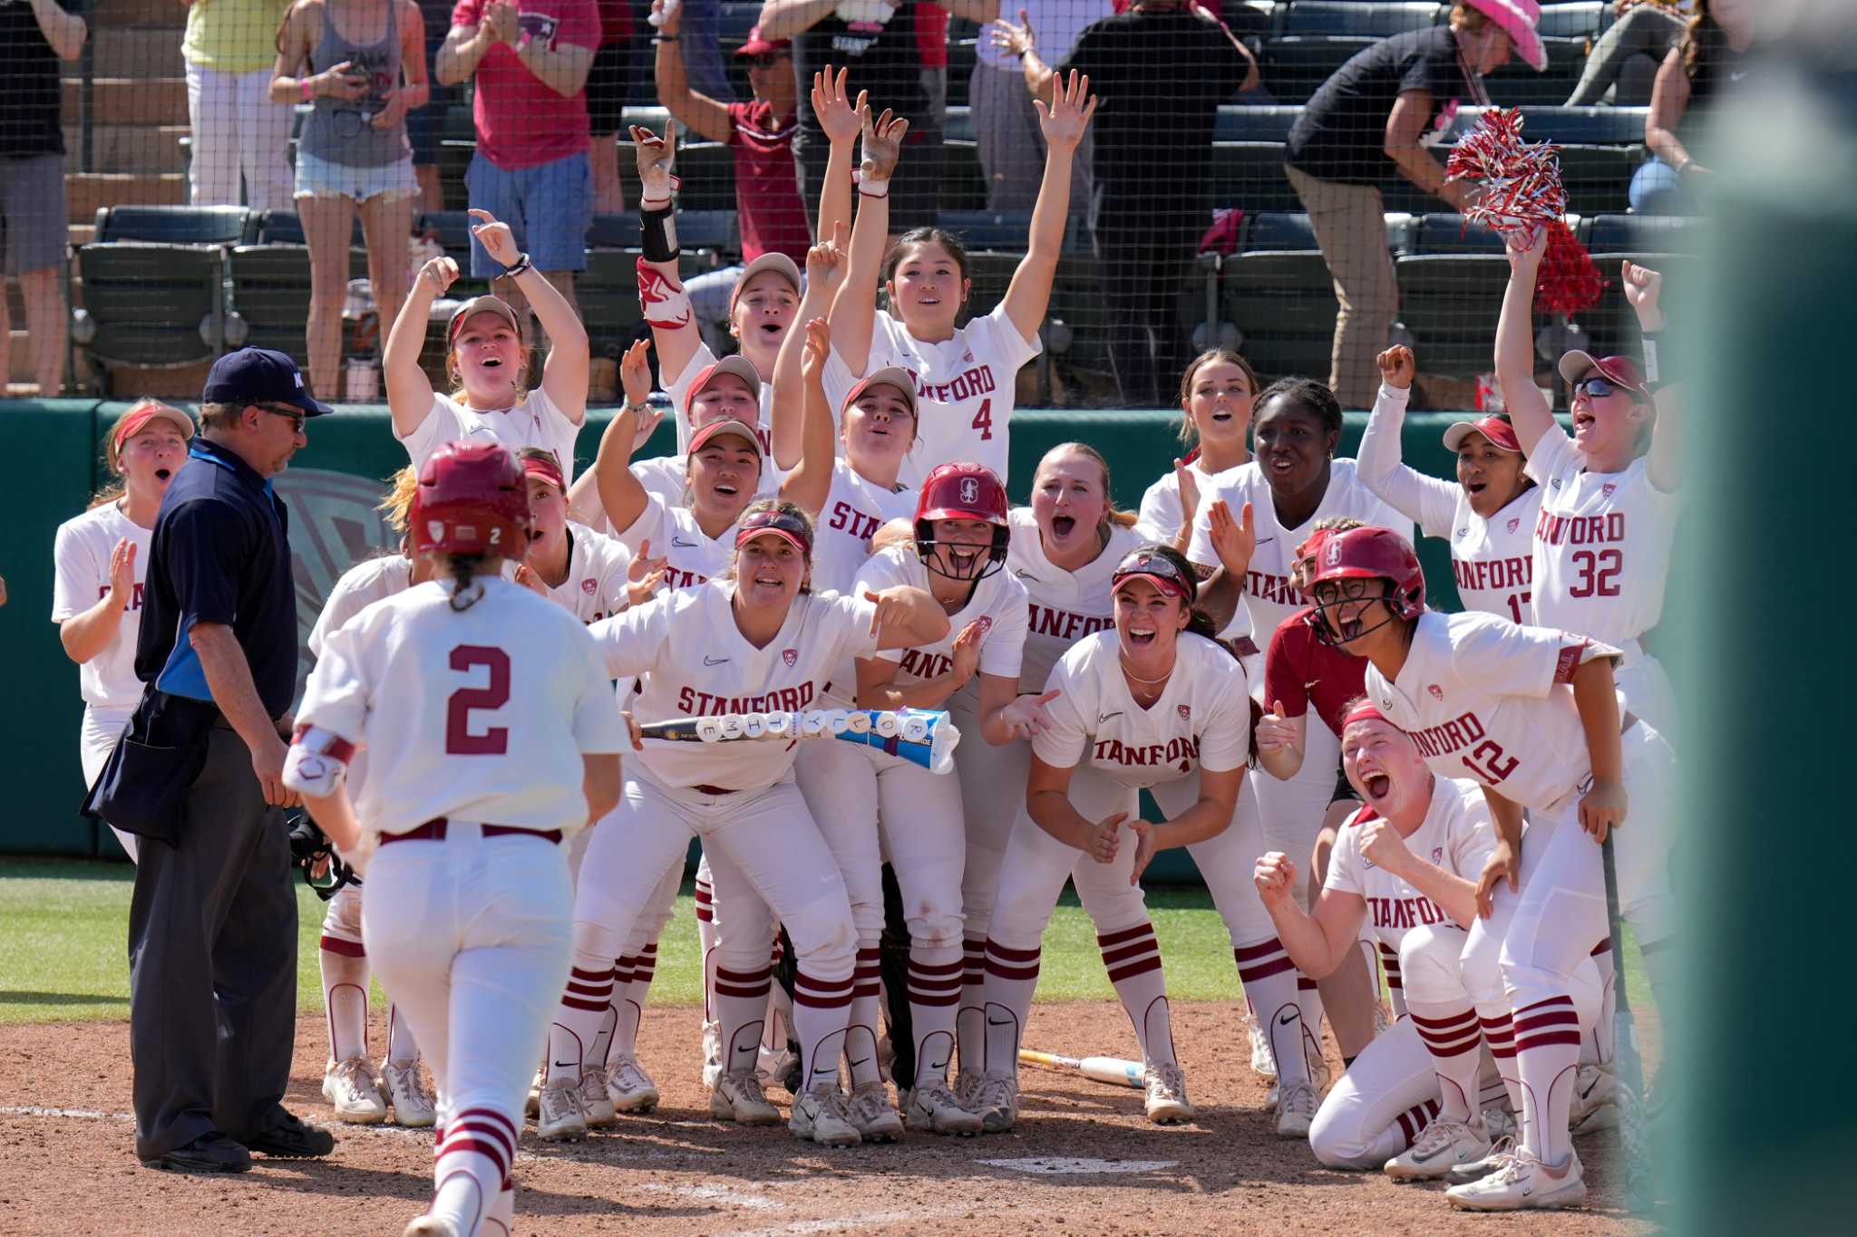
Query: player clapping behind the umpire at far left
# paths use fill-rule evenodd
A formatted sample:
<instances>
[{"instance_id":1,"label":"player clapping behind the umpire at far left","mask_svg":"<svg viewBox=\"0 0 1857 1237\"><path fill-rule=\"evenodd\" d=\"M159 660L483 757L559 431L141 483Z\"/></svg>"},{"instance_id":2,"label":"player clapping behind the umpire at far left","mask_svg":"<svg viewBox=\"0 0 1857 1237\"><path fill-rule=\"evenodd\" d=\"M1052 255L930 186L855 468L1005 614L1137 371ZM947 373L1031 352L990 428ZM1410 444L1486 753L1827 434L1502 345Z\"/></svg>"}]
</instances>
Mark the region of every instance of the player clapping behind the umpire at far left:
<instances>
[{"instance_id":1,"label":"player clapping behind the umpire at far left","mask_svg":"<svg viewBox=\"0 0 1857 1237\"><path fill-rule=\"evenodd\" d=\"M58 525L52 542L52 621L65 655L82 670L84 725L78 755L91 784L141 703L136 632L149 573L149 538L167 482L188 462L193 417L152 399L136 401L110 427L104 458L123 480L98 493L89 510ZM123 616L136 612L124 623ZM130 861L136 835L110 827Z\"/></svg>"}]
</instances>

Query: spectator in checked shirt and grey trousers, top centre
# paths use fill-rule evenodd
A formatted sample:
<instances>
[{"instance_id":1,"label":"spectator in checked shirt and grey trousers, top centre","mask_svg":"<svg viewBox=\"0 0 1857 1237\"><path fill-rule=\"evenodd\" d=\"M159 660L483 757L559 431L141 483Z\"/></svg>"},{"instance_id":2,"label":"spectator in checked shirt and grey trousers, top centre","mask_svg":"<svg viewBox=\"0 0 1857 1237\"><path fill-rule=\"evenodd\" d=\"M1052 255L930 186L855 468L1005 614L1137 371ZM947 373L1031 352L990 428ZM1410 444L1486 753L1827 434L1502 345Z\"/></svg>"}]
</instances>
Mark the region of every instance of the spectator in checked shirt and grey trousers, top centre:
<instances>
[{"instance_id":1,"label":"spectator in checked shirt and grey trousers, top centre","mask_svg":"<svg viewBox=\"0 0 1857 1237\"><path fill-rule=\"evenodd\" d=\"M1114 13L1110 0L1029 0L1019 7L1018 24L1029 30L1047 63L1064 63L1077 37L1090 22ZM1025 89L1025 69L1012 48L1012 33L988 26L973 43L973 76L967 78L967 109L973 139L986 176L986 210L1029 211L1038 200L1044 178L1044 132L1038 111ZM1086 132L1071 165L1070 204L1073 211L1090 206L1090 159L1096 134Z\"/></svg>"}]
</instances>

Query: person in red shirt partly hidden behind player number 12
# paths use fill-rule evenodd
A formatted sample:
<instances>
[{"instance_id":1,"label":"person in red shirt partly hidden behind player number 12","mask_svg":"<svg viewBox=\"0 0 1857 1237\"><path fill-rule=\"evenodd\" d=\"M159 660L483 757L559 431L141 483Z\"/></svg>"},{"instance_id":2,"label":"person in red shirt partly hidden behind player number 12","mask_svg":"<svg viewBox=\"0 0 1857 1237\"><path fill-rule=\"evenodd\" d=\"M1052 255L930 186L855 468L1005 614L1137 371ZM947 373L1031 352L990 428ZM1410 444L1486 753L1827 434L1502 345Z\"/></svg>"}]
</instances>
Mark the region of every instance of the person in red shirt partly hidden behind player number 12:
<instances>
[{"instance_id":1,"label":"person in red shirt partly hidden behind player number 12","mask_svg":"<svg viewBox=\"0 0 1857 1237\"><path fill-rule=\"evenodd\" d=\"M1302 586L1302 577L1315 564L1324 538L1359 525L1361 521L1344 516L1320 521L1309 540L1296 547L1291 582ZM1265 653L1266 712L1257 723L1257 762L1263 772L1283 781L1294 777L1302 768L1309 710L1313 708L1322 725L1339 736L1348 703L1365 694L1367 660L1348 657L1318 640L1315 610L1298 610L1283 619L1270 634L1270 647ZM1311 905L1328 879L1328 855L1335 848L1335 836L1359 807L1361 796L1348 784L1346 770L1341 770L1335 779L1335 797L1328 805L1309 861ZM1363 944L1363 950L1348 955L1331 976L1317 981L1322 1009L1344 1063L1374 1039L1378 985L1372 983L1370 955L1365 951L1369 948Z\"/></svg>"}]
</instances>

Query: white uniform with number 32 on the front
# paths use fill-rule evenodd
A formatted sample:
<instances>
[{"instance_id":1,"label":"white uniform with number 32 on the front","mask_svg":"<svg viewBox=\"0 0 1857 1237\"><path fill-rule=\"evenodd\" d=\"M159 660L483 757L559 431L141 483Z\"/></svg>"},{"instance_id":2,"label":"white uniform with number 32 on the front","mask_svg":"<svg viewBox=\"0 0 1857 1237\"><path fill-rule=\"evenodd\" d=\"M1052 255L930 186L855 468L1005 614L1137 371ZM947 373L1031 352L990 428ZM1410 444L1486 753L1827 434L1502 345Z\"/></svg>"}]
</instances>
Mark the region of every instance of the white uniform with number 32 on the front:
<instances>
[{"instance_id":1,"label":"white uniform with number 32 on the front","mask_svg":"<svg viewBox=\"0 0 1857 1237\"><path fill-rule=\"evenodd\" d=\"M1619 692L1653 727L1675 723L1669 679L1640 638L1664 614L1679 497L1651 480L1645 456L1623 473L1590 473L1573 440L1549 427L1528 456L1541 486L1534 525L1534 618L1623 651Z\"/></svg>"}]
</instances>

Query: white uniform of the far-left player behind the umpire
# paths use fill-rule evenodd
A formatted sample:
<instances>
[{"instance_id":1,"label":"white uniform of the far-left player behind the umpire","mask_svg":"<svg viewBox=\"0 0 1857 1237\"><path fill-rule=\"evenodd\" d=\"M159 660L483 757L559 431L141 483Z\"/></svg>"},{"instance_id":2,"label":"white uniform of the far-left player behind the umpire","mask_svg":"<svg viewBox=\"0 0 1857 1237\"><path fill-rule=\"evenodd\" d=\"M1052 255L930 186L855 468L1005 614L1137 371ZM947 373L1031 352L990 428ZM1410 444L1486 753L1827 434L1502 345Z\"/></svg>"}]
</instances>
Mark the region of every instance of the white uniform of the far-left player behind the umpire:
<instances>
[{"instance_id":1,"label":"white uniform of the far-left player behind the umpire","mask_svg":"<svg viewBox=\"0 0 1857 1237\"><path fill-rule=\"evenodd\" d=\"M154 529L143 529L123 514L115 503L104 503L82 516L58 525L52 542L52 621L78 618L110 595L110 555L117 542L136 547L134 586L117 623L115 636L97 657L78 666L78 692L84 695L84 721L78 727L78 757L84 766L84 784L89 786L104 772L115 751L123 727L141 703L141 679L136 677L136 638L141 631L141 593L149 579L149 542ZM136 835L117 836L130 859L136 859Z\"/></svg>"}]
</instances>

